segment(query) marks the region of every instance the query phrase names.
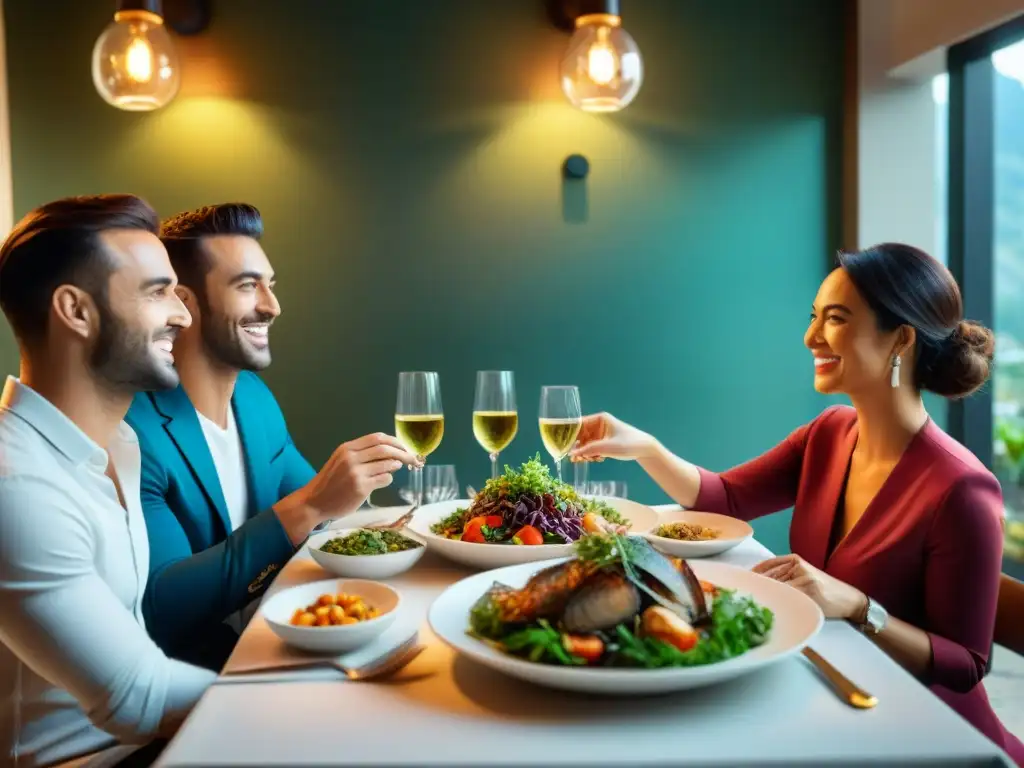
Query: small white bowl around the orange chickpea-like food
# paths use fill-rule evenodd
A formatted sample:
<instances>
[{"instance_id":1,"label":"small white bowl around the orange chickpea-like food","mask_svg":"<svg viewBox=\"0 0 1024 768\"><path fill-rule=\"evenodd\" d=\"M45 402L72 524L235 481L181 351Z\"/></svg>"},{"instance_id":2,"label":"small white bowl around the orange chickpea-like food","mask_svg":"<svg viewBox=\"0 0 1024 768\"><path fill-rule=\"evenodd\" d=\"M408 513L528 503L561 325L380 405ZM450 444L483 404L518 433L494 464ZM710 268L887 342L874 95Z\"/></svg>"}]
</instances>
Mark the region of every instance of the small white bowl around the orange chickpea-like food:
<instances>
[{"instance_id":1,"label":"small white bowl around the orange chickpea-like food","mask_svg":"<svg viewBox=\"0 0 1024 768\"><path fill-rule=\"evenodd\" d=\"M331 627L295 627L292 615L298 608L316 602L324 594L344 592L357 595L380 611L375 618ZM282 590L263 602L260 612L278 637L288 645L314 653L345 653L376 640L398 615L401 597L398 592L380 582L364 579L329 579Z\"/></svg>"}]
</instances>

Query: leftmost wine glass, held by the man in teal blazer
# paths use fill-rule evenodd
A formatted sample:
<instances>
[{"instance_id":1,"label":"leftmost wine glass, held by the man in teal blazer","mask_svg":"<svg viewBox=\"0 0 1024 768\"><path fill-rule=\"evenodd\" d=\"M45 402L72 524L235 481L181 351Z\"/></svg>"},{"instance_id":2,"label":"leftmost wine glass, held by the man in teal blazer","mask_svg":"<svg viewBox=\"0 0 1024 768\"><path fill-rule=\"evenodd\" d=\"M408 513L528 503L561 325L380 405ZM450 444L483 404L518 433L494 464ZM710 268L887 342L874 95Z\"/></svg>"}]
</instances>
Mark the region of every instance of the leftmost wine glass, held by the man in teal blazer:
<instances>
[{"instance_id":1,"label":"leftmost wine glass, held by the man in teal blazer","mask_svg":"<svg viewBox=\"0 0 1024 768\"><path fill-rule=\"evenodd\" d=\"M398 401L394 409L394 431L406 447L426 463L444 436L440 377L433 372L398 374ZM423 467L410 467L416 504L423 504Z\"/></svg>"}]
</instances>

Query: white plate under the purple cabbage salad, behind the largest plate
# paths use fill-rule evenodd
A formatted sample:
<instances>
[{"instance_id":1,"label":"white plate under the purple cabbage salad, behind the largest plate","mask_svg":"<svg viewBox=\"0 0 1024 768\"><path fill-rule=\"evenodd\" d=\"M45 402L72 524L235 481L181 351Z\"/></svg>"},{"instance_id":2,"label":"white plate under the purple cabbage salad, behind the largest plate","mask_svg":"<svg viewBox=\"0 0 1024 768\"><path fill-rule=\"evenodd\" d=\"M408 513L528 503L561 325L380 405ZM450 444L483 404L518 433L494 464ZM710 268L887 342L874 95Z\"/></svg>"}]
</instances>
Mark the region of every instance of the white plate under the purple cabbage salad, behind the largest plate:
<instances>
[{"instance_id":1,"label":"white plate under the purple cabbage salad, behind the largest plate","mask_svg":"<svg viewBox=\"0 0 1024 768\"><path fill-rule=\"evenodd\" d=\"M630 532L639 534L658 523L658 514L650 507L631 502L628 499L611 497L588 497L604 502L614 508L630 522ZM500 568L524 562L569 557L573 554L571 544L538 544L534 546L511 544L474 544L445 539L430 530L430 526L443 520L457 509L469 507L468 499L438 502L420 507L410 520L408 527L427 543L427 547L455 562L474 568Z\"/></svg>"}]
</instances>

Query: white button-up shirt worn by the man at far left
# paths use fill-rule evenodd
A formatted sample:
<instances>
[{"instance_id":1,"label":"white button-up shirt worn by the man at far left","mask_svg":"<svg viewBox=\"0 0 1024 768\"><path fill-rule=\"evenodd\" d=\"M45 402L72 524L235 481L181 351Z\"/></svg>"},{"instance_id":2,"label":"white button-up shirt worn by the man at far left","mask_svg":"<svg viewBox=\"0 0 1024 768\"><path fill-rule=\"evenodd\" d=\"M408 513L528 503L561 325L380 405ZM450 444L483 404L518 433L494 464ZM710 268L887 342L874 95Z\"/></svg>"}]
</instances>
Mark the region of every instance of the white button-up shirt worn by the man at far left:
<instances>
[{"instance_id":1,"label":"white button-up shirt worn by the man at far left","mask_svg":"<svg viewBox=\"0 0 1024 768\"><path fill-rule=\"evenodd\" d=\"M105 474L114 464L125 507ZM0 764L167 734L215 675L150 639L138 439L108 451L16 379L0 396Z\"/></svg>"}]
</instances>

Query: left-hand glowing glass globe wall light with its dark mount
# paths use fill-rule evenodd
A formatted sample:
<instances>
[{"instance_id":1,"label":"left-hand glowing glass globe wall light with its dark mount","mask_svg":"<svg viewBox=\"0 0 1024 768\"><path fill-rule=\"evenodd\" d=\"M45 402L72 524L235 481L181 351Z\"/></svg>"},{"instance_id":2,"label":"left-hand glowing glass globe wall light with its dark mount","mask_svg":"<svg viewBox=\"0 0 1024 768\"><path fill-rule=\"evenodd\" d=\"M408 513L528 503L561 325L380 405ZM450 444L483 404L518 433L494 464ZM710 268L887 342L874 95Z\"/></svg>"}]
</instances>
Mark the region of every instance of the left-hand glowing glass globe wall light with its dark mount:
<instances>
[{"instance_id":1,"label":"left-hand glowing glass globe wall light with its dark mount","mask_svg":"<svg viewBox=\"0 0 1024 768\"><path fill-rule=\"evenodd\" d=\"M170 27L195 35L210 19L209 0L118 0L114 20L92 48L92 82L109 104L150 112L170 103L181 86L181 65Z\"/></svg>"}]
</instances>

